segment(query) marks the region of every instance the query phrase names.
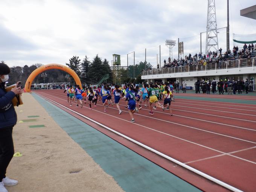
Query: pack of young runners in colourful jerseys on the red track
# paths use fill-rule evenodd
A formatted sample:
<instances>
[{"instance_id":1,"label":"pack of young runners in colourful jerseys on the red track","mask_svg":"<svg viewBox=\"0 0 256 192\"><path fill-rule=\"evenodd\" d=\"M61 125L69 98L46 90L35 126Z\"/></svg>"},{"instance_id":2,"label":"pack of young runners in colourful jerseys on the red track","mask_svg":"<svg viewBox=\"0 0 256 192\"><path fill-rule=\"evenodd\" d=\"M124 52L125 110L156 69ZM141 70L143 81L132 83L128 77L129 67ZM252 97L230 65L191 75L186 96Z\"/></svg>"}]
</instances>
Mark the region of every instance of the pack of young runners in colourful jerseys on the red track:
<instances>
[{"instance_id":1,"label":"pack of young runners in colourful jerseys on the red track","mask_svg":"<svg viewBox=\"0 0 256 192\"><path fill-rule=\"evenodd\" d=\"M91 105L94 104L94 107L97 107L97 101L102 100L104 112L107 112L108 105L116 104L117 109L119 110L119 114L122 113L119 101L120 99L125 100L125 109L129 110L131 116L131 122L135 122L133 113L139 113L139 110L142 108L142 101L144 103L145 108L149 105L149 114L153 115L154 112L152 108L161 108L163 111L169 110L170 115L172 116L171 110L171 101L174 101L173 97L173 86L169 83L156 83L152 82L149 84L143 84L142 89L136 84L125 84L123 87L119 85L110 86L104 83L101 87L85 87L82 89L79 85L69 86L64 90L64 93L67 91L67 102L72 106L72 102L76 102L76 107L79 106L78 102L80 102L81 108L84 104L86 104L86 98L89 101L89 106L91 110ZM114 95L114 102L112 100L112 96ZM160 104L159 101L163 101L163 105ZM152 105L154 104L154 106ZM139 107L137 108L136 105Z\"/></svg>"}]
</instances>

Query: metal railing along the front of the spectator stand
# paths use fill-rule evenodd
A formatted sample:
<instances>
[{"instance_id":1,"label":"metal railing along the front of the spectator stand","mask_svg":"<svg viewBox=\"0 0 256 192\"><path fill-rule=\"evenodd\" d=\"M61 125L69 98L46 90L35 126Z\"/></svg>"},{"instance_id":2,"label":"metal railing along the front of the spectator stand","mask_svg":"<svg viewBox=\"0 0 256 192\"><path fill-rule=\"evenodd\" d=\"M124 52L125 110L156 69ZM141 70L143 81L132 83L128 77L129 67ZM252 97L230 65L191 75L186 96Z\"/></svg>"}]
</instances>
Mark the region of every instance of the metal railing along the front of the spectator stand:
<instances>
[{"instance_id":1,"label":"metal railing along the front of the spectator stand","mask_svg":"<svg viewBox=\"0 0 256 192\"><path fill-rule=\"evenodd\" d=\"M230 61L221 61L219 63L207 63L206 65L197 64L197 65L188 65L188 66L178 66L178 67L168 67L163 69L152 69L142 71L142 76L144 75L160 75L166 73L183 73L183 72L194 72L194 71L207 71L207 70L217 70L217 69L230 69L241 67L251 67L253 70L256 67L256 58L250 59L236 59Z\"/></svg>"}]
</instances>

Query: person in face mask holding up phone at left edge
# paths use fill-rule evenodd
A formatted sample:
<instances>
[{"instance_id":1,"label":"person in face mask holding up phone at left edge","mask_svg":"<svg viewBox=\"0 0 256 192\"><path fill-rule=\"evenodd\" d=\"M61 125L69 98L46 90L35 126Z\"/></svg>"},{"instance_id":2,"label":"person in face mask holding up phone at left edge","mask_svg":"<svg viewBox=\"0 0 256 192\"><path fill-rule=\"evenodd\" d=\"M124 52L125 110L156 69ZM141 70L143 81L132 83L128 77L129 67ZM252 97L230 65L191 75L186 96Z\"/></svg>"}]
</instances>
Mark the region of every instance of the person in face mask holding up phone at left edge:
<instances>
[{"instance_id":1,"label":"person in face mask holding up phone at left edge","mask_svg":"<svg viewBox=\"0 0 256 192\"><path fill-rule=\"evenodd\" d=\"M6 177L6 169L14 155L12 129L17 123L17 114L12 104L16 94L22 94L23 90L18 83L11 91L5 90L5 84L9 79L10 68L0 63L0 192L8 192L5 186L13 186L18 181Z\"/></svg>"}]
</instances>

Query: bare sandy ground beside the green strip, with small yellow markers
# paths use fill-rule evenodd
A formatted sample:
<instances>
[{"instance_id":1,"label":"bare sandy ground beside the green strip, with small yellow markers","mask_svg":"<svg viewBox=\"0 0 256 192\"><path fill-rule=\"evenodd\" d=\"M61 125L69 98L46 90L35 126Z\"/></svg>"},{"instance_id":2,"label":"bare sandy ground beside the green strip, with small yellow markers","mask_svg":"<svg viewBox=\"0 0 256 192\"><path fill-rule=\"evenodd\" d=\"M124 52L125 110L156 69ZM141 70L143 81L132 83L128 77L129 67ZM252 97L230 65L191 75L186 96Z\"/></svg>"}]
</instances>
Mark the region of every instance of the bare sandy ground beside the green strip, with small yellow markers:
<instances>
[{"instance_id":1,"label":"bare sandy ground beside the green strip, with small yellow markers","mask_svg":"<svg viewBox=\"0 0 256 192\"><path fill-rule=\"evenodd\" d=\"M29 93L22 96L24 105L16 108L18 122L13 138L15 152L7 176L19 181L6 187L9 192L116 192L122 188L110 175L75 143ZM27 116L40 117L28 118ZM45 125L45 128L29 128ZM70 173L75 172L75 173Z\"/></svg>"}]
</instances>

